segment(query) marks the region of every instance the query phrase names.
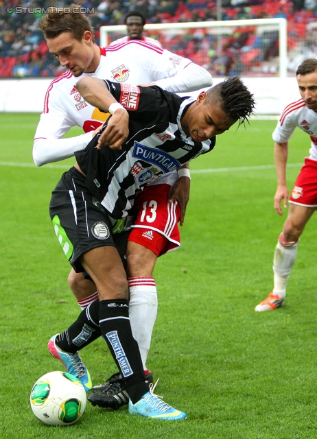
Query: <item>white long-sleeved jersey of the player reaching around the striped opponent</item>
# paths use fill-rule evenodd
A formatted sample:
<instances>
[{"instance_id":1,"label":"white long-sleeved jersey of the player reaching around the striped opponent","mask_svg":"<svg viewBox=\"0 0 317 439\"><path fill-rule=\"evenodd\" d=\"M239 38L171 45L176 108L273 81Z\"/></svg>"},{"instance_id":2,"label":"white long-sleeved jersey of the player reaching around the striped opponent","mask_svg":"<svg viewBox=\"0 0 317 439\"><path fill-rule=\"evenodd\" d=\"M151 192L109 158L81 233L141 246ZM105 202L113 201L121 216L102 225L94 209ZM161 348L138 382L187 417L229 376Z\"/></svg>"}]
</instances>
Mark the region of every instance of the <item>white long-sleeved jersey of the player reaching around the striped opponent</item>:
<instances>
[{"instance_id":1,"label":"white long-sleeved jersey of the player reaching around the striped opponent","mask_svg":"<svg viewBox=\"0 0 317 439\"><path fill-rule=\"evenodd\" d=\"M167 91L193 91L211 86L207 70L172 52L141 40L100 49L99 66L94 73L83 73L127 84L155 82ZM34 162L38 166L69 158L83 150L91 141L91 131L108 117L88 104L75 84L70 71L54 79L45 95L45 104L36 130L33 147ZM62 139L73 126L80 126L86 134Z\"/></svg>"}]
</instances>

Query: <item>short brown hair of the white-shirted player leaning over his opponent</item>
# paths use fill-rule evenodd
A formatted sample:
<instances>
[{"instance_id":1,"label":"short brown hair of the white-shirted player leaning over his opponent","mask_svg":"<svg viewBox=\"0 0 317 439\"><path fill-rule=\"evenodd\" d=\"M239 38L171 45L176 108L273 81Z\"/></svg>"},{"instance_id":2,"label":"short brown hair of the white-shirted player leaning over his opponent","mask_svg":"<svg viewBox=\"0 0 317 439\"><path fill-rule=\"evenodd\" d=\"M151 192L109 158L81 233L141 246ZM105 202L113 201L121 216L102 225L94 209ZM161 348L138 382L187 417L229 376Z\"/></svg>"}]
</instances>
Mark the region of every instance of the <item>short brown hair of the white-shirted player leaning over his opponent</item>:
<instances>
[{"instance_id":1,"label":"short brown hair of the white-shirted player leaning over his opponent","mask_svg":"<svg viewBox=\"0 0 317 439\"><path fill-rule=\"evenodd\" d=\"M49 12L40 21L40 30L45 40L56 38L63 32L69 32L75 40L81 41L84 32L89 30L95 43L93 26L89 18L81 11L82 6L76 3L71 3L69 6L50 6Z\"/></svg>"}]
</instances>

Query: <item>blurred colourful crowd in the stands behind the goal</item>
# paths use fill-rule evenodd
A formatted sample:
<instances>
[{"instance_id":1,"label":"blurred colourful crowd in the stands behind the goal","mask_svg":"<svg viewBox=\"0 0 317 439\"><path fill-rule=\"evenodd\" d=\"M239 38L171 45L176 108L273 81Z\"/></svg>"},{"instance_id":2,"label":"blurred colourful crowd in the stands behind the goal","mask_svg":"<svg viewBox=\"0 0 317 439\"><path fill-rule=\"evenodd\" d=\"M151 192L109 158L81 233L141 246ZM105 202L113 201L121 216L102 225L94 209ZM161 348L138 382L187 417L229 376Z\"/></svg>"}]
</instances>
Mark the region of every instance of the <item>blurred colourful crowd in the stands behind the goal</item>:
<instances>
[{"instance_id":1,"label":"blurred colourful crowd in the stands behind the goal","mask_svg":"<svg viewBox=\"0 0 317 439\"><path fill-rule=\"evenodd\" d=\"M64 69L47 51L43 35L38 29L43 11L49 5L69 5L72 1L47 0L0 0L0 77L56 76ZM222 0L218 10L217 2L211 0L77 0L86 8L99 42L99 28L102 25L124 23L124 16L130 10L143 12L147 23L180 23L190 21L214 21L263 19L285 17L288 23L288 46L296 45L298 39L305 39L308 23L317 21L317 0ZM256 38L248 29L240 29L234 37L227 38L224 54L219 57L215 38L192 33L190 40L181 37L169 41L168 49L203 64L215 75L242 73L244 59L266 59L278 54L277 33L268 41ZM166 41L161 41L165 47ZM259 44L261 43L261 54ZM263 52L262 45L266 44ZM198 59L199 56L202 58Z\"/></svg>"}]
</instances>

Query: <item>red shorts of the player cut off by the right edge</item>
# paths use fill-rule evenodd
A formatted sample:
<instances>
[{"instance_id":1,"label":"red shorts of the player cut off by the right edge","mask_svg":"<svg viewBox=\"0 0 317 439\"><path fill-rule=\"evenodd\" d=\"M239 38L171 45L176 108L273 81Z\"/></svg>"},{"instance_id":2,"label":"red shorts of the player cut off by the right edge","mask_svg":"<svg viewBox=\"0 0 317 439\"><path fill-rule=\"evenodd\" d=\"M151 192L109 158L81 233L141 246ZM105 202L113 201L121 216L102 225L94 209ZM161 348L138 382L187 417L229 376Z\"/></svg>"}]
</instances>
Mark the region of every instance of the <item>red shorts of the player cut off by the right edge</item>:
<instances>
[{"instance_id":1,"label":"red shorts of the player cut off by the right edge","mask_svg":"<svg viewBox=\"0 0 317 439\"><path fill-rule=\"evenodd\" d=\"M317 207L317 161L305 158L290 196L290 203Z\"/></svg>"}]
</instances>

